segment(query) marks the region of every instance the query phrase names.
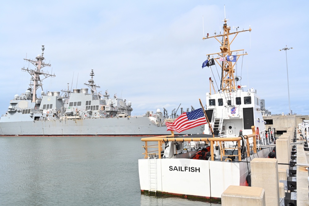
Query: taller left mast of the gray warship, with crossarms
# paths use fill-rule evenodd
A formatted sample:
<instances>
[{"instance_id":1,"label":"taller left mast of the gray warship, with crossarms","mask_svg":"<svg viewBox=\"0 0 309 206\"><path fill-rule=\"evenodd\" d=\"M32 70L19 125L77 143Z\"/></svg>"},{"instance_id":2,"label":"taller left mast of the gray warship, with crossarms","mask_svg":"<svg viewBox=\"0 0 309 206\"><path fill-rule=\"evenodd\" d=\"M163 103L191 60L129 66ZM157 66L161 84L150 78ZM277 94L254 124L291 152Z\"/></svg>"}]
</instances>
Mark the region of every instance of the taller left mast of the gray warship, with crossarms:
<instances>
[{"instance_id":1,"label":"taller left mast of the gray warship, with crossarms","mask_svg":"<svg viewBox=\"0 0 309 206\"><path fill-rule=\"evenodd\" d=\"M30 82L30 87L32 88L32 102L36 102L36 91L39 87L41 87L42 91L43 91L43 87L42 87L42 80L46 79L48 77L55 77L55 75L53 74L48 74L44 71L41 71L41 69L45 66L51 66L50 64L46 64L43 60L44 60L44 45L42 45L42 54L38 55L36 57L36 60L32 60L32 59L24 59L26 61L29 61L31 64L33 64L36 69L25 69L25 67L21 68L21 70L23 71L27 71L31 76L31 82ZM45 78L41 79L40 75L43 74Z\"/></svg>"}]
</instances>

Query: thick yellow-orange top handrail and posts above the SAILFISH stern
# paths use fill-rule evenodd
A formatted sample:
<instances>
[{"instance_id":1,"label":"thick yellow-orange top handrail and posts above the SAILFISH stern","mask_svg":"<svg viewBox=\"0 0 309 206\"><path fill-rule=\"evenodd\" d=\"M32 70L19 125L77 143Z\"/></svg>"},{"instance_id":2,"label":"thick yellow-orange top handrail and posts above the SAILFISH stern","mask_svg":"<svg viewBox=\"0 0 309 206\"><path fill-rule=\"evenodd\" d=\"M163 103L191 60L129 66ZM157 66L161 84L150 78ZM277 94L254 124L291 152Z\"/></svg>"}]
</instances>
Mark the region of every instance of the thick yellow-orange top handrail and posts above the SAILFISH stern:
<instances>
[{"instance_id":1,"label":"thick yellow-orange top handrail and posts above the SAILFISH stern","mask_svg":"<svg viewBox=\"0 0 309 206\"><path fill-rule=\"evenodd\" d=\"M223 141L237 141L238 144L240 145L240 140L243 138L246 139L247 147L249 145L249 139L250 137L253 137L253 151L256 153L256 133L255 133L255 126L251 127L252 129L252 134L249 135L243 135L243 137L174 137L174 132L171 131L171 135L163 135L163 136L158 136L158 137L144 137L141 139L141 141L145 141L145 150L147 153L147 141L158 141L158 155L159 159L161 159L161 146L162 142L165 141L179 141L179 142L184 142L184 141L205 141L205 142L210 142L210 154L211 154L211 160L214 160L214 143L215 142L223 142ZM238 148L238 159L241 161L241 154L240 154L240 147ZM247 151L249 153L249 151Z\"/></svg>"}]
</instances>

